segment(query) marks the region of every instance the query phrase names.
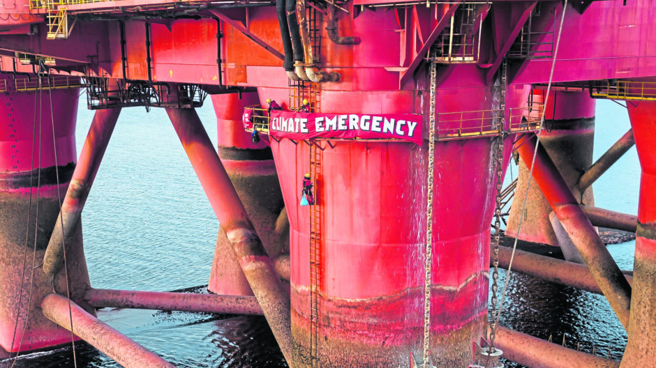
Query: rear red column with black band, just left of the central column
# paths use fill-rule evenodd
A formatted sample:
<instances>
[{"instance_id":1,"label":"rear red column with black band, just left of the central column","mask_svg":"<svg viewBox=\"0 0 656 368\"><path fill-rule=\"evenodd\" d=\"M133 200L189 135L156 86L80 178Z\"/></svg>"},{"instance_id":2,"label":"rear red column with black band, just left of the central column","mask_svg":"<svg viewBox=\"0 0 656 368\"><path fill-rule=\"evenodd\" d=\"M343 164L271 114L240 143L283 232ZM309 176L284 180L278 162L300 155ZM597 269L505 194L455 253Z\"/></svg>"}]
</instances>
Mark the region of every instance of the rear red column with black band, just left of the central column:
<instances>
[{"instance_id":1,"label":"rear red column with black band, just left of the central column","mask_svg":"<svg viewBox=\"0 0 656 368\"><path fill-rule=\"evenodd\" d=\"M276 219L283 208L283 194L278 183L271 148L260 141L254 144L244 131L241 115L244 107L260 105L257 92L212 95L218 128L218 155L228 172L241 203L246 208L262 244L273 259L281 252ZM253 295L223 228L219 229L209 277L209 291L221 295Z\"/></svg>"}]
</instances>

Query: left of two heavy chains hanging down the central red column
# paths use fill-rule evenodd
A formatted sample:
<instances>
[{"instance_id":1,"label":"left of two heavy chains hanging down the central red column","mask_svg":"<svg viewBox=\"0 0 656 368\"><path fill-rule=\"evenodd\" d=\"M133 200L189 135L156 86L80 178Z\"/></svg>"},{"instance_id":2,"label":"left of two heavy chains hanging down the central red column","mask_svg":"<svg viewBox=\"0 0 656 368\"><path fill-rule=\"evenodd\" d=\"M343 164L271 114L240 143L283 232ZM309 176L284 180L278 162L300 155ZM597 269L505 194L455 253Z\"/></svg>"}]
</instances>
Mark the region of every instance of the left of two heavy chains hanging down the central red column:
<instances>
[{"instance_id":1,"label":"left of two heavy chains hanging down the central red column","mask_svg":"<svg viewBox=\"0 0 656 368\"><path fill-rule=\"evenodd\" d=\"M434 62L431 62L431 106L428 111L428 123L431 133L428 137L428 197L426 199L426 278L424 279L424 368L428 366L428 343L431 337L431 262L433 259L433 169L435 168L435 74Z\"/></svg>"}]
</instances>

